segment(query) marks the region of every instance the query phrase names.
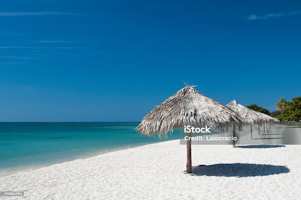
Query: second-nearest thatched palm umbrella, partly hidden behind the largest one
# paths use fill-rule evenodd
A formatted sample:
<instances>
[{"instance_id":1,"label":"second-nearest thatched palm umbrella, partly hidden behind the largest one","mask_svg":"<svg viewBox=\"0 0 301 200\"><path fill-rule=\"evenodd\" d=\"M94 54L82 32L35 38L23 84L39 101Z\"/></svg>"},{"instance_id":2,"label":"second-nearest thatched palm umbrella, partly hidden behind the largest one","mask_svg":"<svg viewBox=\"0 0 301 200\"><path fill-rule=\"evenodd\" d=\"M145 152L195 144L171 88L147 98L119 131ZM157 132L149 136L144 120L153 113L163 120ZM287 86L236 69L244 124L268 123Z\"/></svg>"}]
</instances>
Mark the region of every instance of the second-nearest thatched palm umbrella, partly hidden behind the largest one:
<instances>
[{"instance_id":1,"label":"second-nearest thatched palm umbrella, partly hidden behind the largest one","mask_svg":"<svg viewBox=\"0 0 301 200\"><path fill-rule=\"evenodd\" d=\"M252 137L252 124L262 124L264 123L264 119L260 114L257 114L255 111L240 105L235 100L231 101L226 105L228 108L236 112L241 118L244 119L247 125L251 126L251 139ZM234 130L235 131L235 130ZM235 147L235 146L234 146Z\"/></svg>"}]
</instances>

